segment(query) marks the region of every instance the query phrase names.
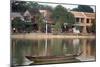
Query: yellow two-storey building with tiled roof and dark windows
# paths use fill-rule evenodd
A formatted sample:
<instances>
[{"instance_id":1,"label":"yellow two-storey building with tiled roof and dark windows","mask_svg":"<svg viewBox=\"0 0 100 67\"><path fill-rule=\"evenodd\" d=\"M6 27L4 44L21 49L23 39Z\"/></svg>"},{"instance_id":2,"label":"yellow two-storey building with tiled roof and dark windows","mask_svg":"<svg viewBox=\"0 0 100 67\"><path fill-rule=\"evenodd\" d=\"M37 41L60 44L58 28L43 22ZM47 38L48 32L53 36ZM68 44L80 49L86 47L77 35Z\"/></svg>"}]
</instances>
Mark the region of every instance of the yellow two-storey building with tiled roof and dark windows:
<instances>
[{"instance_id":1,"label":"yellow two-storey building with tiled roof and dark windows","mask_svg":"<svg viewBox=\"0 0 100 67\"><path fill-rule=\"evenodd\" d=\"M92 21L95 20L95 13L76 12L71 11L75 17L75 26L82 27L82 33L87 33L87 28L92 25Z\"/></svg>"}]
</instances>

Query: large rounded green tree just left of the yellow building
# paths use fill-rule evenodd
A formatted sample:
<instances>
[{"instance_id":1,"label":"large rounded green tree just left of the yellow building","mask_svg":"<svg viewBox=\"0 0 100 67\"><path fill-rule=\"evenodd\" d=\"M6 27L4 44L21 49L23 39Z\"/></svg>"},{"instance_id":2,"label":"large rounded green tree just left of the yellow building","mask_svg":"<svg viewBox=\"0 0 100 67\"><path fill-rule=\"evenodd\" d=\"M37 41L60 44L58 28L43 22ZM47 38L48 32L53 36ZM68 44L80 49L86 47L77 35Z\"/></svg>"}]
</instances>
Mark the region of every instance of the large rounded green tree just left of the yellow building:
<instances>
[{"instance_id":1,"label":"large rounded green tree just left of the yellow building","mask_svg":"<svg viewBox=\"0 0 100 67\"><path fill-rule=\"evenodd\" d=\"M61 26L64 23L73 24L75 22L74 15L71 12L68 12L67 9L61 5L54 8L52 18L54 20L55 27L59 29L61 29Z\"/></svg>"}]
</instances>

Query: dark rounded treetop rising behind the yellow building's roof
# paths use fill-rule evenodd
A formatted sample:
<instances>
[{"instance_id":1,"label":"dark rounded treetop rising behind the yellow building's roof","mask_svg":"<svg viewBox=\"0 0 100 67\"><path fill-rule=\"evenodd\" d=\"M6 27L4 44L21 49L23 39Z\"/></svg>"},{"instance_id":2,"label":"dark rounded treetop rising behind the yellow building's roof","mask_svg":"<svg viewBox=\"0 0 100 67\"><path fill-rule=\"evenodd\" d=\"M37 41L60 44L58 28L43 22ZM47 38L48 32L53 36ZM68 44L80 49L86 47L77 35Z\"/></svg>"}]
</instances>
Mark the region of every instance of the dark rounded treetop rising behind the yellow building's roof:
<instances>
[{"instance_id":1,"label":"dark rounded treetop rising behind the yellow building's roof","mask_svg":"<svg viewBox=\"0 0 100 67\"><path fill-rule=\"evenodd\" d=\"M93 12L93 9L88 5L78 5L77 8L73 8L73 11L80 11L80 12Z\"/></svg>"}]
</instances>

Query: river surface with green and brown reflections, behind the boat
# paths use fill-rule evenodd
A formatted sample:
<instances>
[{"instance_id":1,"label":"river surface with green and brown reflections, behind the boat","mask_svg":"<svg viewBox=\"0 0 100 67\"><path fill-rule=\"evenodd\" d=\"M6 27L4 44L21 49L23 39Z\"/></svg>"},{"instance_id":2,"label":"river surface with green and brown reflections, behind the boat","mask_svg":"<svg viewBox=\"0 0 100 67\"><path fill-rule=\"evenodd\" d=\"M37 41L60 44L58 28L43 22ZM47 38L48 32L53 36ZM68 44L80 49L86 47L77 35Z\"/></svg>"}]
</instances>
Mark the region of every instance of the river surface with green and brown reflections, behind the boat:
<instances>
[{"instance_id":1,"label":"river surface with green and brown reflections, behind the boat","mask_svg":"<svg viewBox=\"0 0 100 67\"><path fill-rule=\"evenodd\" d=\"M95 39L12 39L12 64L23 65L25 56L66 56L82 52L80 60L95 60Z\"/></svg>"}]
</instances>

